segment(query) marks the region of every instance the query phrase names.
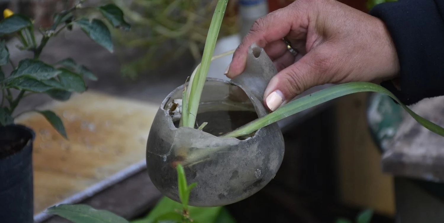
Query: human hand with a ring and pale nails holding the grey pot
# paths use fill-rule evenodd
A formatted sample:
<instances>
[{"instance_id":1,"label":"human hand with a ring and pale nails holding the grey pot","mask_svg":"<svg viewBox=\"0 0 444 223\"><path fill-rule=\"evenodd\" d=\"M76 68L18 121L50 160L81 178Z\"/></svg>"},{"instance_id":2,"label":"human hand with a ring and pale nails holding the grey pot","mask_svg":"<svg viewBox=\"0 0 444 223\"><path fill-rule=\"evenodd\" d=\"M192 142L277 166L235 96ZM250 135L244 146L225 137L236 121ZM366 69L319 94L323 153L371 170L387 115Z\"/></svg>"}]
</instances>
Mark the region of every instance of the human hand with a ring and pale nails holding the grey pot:
<instances>
[{"instance_id":1,"label":"human hand with a ring and pale nails holding the grey pot","mask_svg":"<svg viewBox=\"0 0 444 223\"><path fill-rule=\"evenodd\" d=\"M297 55L287 49L284 37ZM245 69L253 42L278 71L264 93L271 111L316 85L380 82L395 78L400 69L384 23L335 0L297 0L258 19L234 52L227 77Z\"/></svg>"}]
</instances>

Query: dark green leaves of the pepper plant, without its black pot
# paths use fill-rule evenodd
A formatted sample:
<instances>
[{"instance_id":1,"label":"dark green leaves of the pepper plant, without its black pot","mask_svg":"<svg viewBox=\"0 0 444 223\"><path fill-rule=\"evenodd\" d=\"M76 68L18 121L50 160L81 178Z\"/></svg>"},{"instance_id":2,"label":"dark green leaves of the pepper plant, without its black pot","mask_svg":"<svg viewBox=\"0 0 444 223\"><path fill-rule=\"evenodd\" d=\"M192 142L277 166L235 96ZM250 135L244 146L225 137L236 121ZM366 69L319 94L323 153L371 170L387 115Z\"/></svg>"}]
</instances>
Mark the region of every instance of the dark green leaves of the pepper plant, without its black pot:
<instances>
[{"instance_id":1,"label":"dark green leaves of the pepper plant, without its black pot","mask_svg":"<svg viewBox=\"0 0 444 223\"><path fill-rule=\"evenodd\" d=\"M112 52L113 44L108 27L102 20L106 20L113 27L122 27L126 30L130 25L123 19L123 12L114 4L107 4L95 8L102 13L103 19L88 19L79 12L82 5L75 4L62 12L55 13L53 24L43 34L40 43L37 44L34 27L31 19L24 15L13 14L0 21L0 36L14 35L20 40L19 50L28 50L33 53L33 58L21 60L17 67L11 61L8 47L4 40L0 42L0 125L8 125L14 122L13 115L21 99L30 93L45 93L56 100L68 100L72 92L84 92L87 89L84 79L96 81L97 77L85 66L78 65L71 58L64 59L55 65L49 65L40 61L40 54L48 41L58 35L65 28L71 30L73 24L77 24L92 40ZM1 66L11 64L13 70L5 75ZM17 95L12 89L19 90ZM49 123L67 138L62 120L52 111L37 111L48 120ZM20 113L22 114L22 113ZM19 115L20 115L19 114Z\"/></svg>"}]
</instances>

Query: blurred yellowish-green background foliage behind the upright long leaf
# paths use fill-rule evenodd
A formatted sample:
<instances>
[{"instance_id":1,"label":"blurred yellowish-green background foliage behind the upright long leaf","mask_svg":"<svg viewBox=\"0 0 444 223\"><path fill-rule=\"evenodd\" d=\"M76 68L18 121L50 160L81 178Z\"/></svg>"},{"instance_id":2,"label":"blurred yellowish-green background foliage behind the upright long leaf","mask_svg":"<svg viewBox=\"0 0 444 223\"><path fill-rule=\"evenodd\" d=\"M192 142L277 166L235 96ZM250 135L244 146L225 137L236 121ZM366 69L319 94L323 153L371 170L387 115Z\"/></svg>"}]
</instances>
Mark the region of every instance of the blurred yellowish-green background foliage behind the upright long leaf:
<instances>
[{"instance_id":1,"label":"blurred yellowish-green background foliage behind the upright long leaf","mask_svg":"<svg viewBox=\"0 0 444 223\"><path fill-rule=\"evenodd\" d=\"M200 61L216 0L111 0L131 22L130 32L115 32L122 74L132 79L184 54ZM221 35L237 32L236 1L229 1ZM135 58L134 49L137 51ZM126 53L130 52L130 53ZM128 59L131 58L131 59Z\"/></svg>"}]
</instances>

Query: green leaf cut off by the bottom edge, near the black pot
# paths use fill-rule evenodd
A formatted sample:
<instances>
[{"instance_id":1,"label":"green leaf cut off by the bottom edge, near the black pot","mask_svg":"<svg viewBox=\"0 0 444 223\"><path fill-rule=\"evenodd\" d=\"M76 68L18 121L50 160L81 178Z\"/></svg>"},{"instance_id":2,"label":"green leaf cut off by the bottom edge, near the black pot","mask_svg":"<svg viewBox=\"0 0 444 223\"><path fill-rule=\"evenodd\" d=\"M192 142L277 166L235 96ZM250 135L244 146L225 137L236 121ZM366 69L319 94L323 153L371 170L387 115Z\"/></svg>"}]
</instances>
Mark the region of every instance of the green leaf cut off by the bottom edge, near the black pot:
<instances>
[{"instance_id":1,"label":"green leaf cut off by the bottom edge, near the black pot","mask_svg":"<svg viewBox=\"0 0 444 223\"><path fill-rule=\"evenodd\" d=\"M60 204L46 210L74 223L128 223L119 215L106 210L97 210L85 204Z\"/></svg>"}]
</instances>

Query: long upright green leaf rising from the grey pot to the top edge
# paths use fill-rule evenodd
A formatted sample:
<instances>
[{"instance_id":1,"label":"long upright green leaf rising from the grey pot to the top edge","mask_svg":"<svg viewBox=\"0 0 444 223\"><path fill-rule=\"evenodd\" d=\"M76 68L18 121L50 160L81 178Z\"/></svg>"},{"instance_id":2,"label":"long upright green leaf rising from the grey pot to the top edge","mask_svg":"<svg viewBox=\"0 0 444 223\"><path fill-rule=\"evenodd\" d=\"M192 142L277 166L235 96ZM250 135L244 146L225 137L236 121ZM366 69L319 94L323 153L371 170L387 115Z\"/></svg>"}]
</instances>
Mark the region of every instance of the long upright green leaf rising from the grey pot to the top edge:
<instances>
[{"instance_id":1,"label":"long upright green leaf rising from the grey pot to the top edge","mask_svg":"<svg viewBox=\"0 0 444 223\"><path fill-rule=\"evenodd\" d=\"M210 23L210 29L208 30L208 35L206 36L201 66L198 69L199 73L196 73L195 77L192 77L190 96L188 99L188 112L190 115L188 115L188 123L184 123L184 126L194 127L200 97L202 95L202 89L205 85L208 69L210 69L211 57L214 53L214 46L216 46L216 41L218 39L219 30L227 3L228 0L218 0L218 4L214 10L214 15Z\"/></svg>"}]
</instances>

